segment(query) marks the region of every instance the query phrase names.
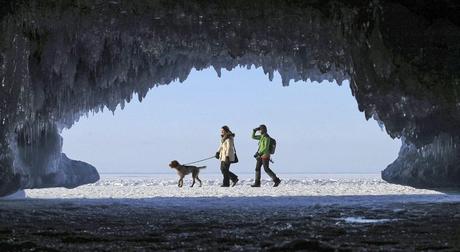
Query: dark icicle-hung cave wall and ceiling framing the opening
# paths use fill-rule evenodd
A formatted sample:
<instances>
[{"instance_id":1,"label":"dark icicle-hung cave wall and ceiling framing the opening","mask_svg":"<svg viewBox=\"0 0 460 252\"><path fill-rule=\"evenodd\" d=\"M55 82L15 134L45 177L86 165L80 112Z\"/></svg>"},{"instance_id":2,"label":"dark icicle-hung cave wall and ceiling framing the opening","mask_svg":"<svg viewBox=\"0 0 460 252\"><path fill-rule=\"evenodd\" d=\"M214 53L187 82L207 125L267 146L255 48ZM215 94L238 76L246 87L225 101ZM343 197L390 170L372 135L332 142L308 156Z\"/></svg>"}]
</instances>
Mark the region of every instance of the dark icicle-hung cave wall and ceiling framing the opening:
<instances>
[{"instance_id":1,"label":"dark icicle-hung cave wall and ceiling framing the opening","mask_svg":"<svg viewBox=\"0 0 460 252\"><path fill-rule=\"evenodd\" d=\"M4 1L0 195L94 182L58 133L192 68L350 80L366 118L403 137L393 183L459 188L460 5L454 1Z\"/></svg>"}]
</instances>

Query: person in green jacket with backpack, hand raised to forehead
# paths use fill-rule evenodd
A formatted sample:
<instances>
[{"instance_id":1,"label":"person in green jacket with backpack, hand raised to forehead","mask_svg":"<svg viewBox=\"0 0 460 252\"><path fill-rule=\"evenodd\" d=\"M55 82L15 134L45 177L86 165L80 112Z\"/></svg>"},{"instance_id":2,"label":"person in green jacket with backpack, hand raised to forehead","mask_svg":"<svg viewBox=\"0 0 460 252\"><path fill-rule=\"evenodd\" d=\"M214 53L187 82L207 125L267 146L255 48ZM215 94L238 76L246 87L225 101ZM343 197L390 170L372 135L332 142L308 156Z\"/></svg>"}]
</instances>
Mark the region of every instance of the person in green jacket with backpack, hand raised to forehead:
<instances>
[{"instance_id":1,"label":"person in green jacket with backpack, hand raised to forehead","mask_svg":"<svg viewBox=\"0 0 460 252\"><path fill-rule=\"evenodd\" d=\"M256 135L256 132L260 131L260 135ZM259 140L259 149L254 157L257 160L256 163L256 179L251 187L260 187L260 168L264 166L265 172L272 178L275 183L273 186L277 187L281 180L276 174L269 168L270 163L270 136L267 134L267 126L260 125L258 128L252 130L252 139Z\"/></svg>"}]
</instances>

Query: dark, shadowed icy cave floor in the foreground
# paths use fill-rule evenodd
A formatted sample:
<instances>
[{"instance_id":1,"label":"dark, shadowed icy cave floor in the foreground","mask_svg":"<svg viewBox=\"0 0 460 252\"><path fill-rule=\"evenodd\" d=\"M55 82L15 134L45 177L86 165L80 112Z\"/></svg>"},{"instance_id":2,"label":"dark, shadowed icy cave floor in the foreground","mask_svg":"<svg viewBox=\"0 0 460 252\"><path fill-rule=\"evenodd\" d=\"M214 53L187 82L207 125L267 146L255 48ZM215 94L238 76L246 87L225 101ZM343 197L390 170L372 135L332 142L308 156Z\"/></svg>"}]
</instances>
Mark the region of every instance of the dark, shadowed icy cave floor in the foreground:
<instances>
[{"instance_id":1,"label":"dark, shadowed icy cave floor in the foreground","mask_svg":"<svg viewBox=\"0 0 460 252\"><path fill-rule=\"evenodd\" d=\"M0 251L460 251L460 203L0 202Z\"/></svg>"}]
</instances>

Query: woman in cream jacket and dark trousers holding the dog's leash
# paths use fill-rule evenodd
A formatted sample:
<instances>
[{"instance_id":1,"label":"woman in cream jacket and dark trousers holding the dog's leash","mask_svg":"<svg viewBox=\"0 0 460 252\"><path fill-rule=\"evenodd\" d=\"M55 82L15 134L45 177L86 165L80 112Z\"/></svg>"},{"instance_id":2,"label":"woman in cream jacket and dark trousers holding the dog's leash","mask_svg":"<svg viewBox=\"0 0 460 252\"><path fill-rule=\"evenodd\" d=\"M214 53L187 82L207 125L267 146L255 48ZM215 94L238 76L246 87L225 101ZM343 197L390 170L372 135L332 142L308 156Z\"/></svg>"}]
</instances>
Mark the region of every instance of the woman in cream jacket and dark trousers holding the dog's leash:
<instances>
[{"instance_id":1,"label":"woman in cream jacket and dark trousers holding the dog's leash","mask_svg":"<svg viewBox=\"0 0 460 252\"><path fill-rule=\"evenodd\" d=\"M235 161L235 145L233 138L235 134L230 131L228 126L223 126L221 129L220 146L216 153L216 158L220 160L220 170L224 176L222 187L229 187L230 180L232 187L238 182L238 176L230 171L230 164Z\"/></svg>"}]
</instances>

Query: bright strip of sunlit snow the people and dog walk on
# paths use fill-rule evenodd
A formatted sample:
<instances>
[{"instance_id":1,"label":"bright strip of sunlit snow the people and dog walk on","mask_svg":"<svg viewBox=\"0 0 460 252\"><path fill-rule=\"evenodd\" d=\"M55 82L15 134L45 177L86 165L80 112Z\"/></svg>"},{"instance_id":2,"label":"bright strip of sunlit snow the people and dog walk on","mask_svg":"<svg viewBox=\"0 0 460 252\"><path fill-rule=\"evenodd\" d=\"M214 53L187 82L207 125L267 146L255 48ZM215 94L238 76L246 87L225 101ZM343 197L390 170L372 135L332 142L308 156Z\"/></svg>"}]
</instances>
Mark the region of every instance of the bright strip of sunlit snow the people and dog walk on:
<instances>
[{"instance_id":1,"label":"bright strip of sunlit snow the people and dog walk on","mask_svg":"<svg viewBox=\"0 0 460 252\"><path fill-rule=\"evenodd\" d=\"M378 174L280 174L282 183L262 180L262 187L252 188L252 174L240 175L235 187L222 188L221 175L202 174L203 186L177 187L174 174L103 175L94 184L75 189L28 189L31 199L108 200L109 202L153 203L159 205L315 205L315 204L378 204L406 202L455 202L460 196L431 190L389 184ZM198 203L201 202L201 203Z\"/></svg>"}]
</instances>

